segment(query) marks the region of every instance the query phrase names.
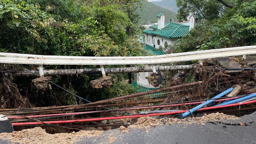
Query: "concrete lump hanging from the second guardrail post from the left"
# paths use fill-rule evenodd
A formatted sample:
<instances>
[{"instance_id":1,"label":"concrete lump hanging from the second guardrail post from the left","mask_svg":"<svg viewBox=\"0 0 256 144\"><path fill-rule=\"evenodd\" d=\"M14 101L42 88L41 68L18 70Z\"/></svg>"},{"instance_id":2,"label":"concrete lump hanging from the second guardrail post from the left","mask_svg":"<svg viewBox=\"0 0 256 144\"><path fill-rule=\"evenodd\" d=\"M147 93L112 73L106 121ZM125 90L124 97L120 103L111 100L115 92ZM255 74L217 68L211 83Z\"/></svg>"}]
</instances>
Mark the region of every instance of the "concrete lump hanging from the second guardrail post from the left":
<instances>
[{"instance_id":1,"label":"concrete lump hanging from the second guardrail post from the left","mask_svg":"<svg viewBox=\"0 0 256 144\"><path fill-rule=\"evenodd\" d=\"M105 76L90 82L93 88L103 88L103 86L110 88L112 85L112 78L110 76Z\"/></svg>"}]
</instances>

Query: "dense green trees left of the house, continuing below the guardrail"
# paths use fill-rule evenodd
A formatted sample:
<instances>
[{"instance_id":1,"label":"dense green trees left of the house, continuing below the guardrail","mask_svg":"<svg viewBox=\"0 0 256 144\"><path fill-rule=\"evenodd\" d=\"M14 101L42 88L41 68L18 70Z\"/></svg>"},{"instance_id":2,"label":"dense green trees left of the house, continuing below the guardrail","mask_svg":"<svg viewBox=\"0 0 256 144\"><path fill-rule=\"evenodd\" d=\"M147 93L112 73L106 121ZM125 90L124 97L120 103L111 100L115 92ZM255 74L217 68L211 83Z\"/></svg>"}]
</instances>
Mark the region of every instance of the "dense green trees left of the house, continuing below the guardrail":
<instances>
[{"instance_id":1,"label":"dense green trees left of the house, continuing below the guardrail","mask_svg":"<svg viewBox=\"0 0 256 144\"><path fill-rule=\"evenodd\" d=\"M64 56L141 56L142 47L136 37L141 33L136 25L136 5L140 5L140 0L1 0L0 51ZM49 65L45 69L84 67L96 66ZM100 77L55 76L52 81L91 101L106 98L103 95L114 97L134 92L131 87L120 91L129 86L124 75L111 89L92 89L90 81ZM27 84L21 79L15 83ZM40 106L79 103L76 97L54 85L52 90L45 92L34 88L28 97L37 102L43 96ZM37 97L33 97L35 94Z\"/></svg>"}]
</instances>

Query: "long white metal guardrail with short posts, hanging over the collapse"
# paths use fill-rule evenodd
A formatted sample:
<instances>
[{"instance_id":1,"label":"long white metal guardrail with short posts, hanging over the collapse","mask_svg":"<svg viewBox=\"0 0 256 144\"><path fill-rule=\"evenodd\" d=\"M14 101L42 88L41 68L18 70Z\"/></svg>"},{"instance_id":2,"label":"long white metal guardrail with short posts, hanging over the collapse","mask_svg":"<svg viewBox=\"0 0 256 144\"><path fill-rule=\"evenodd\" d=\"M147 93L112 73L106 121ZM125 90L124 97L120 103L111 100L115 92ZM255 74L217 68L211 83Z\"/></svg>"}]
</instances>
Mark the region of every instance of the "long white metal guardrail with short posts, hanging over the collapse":
<instances>
[{"instance_id":1,"label":"long white metal guardrail with short posts, hanging over the collapse","mask_svg":"<svg viewBox=\"0 0 256 144\"><path fill-rule=\"evenodd\" d=\"M40 68L42 69L42 65L100 65L102 74L104 76L105 71L103 65L152 64L152 66L154 66L155 64L160 63L203 60L226 56L244 55L243 58L245 58L248 54L256 54L256 46L243 46L157 56L135 57L81 57L0 53L0 63L38 64L39 70ZM153 72L155 72L154 69Z\"/></svg>"}]
</instances>

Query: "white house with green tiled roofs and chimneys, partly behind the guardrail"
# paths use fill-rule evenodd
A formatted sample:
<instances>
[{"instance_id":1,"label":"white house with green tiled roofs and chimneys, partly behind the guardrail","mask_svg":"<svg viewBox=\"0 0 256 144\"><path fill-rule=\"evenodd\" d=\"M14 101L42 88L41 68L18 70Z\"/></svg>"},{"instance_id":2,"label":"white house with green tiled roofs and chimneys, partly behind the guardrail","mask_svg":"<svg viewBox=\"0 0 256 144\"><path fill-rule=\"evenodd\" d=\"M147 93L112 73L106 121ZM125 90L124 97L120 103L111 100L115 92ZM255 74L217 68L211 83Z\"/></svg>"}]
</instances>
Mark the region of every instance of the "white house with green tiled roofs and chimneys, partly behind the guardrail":
<instances>
[{"instance_id":1,"label":"white house with green tiled roofs and chimneys, partly behind the guardrail","mask_svg":"<svg viewBox=\"0 0 256 144\"><path fill-rule=\"evenodd\" d=\"M159 50L159 46L164 47L165 44L173 45L179 38L182 38L185 34L194 28L194 26L199 25L198 15L196 13L190 13L188 17L188 22L173 23L172 19L170 22L165 22L165 15L160 13L156 16L158 18L158 24L150 26L151 30L144 30L145 34L145 47L144 49L149 51L153 55L163 55L165 54L163 50ZM137 73L136 81L133 83L135 88L140 91L148 91L152 89L158 89L158 87L153 87L149 84L148 80L145 78L149 76L150 72L140 72Z\"/></svg>"}]
</instances>

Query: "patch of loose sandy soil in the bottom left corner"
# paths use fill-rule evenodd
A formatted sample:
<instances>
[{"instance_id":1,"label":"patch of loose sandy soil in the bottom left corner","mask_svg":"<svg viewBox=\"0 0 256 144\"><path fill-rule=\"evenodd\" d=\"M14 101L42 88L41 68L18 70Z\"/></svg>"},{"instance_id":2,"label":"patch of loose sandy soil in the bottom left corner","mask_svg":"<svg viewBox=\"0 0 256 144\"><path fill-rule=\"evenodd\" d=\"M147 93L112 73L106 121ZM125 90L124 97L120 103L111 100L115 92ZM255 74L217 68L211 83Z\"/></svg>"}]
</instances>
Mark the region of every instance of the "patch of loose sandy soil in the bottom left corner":
<instances>
[{"instance_id":1,"label":"patch of loose sandy soil in the bottom left corner","mask_svg":"<svg viewBox=\"0 0 256 144\"><path fill-rule=\"evenodd\" d=\"M72 133L56 133L48 134L44 129L35 127L33 129L24 129L22 131L14 131L12 133L1 133L0 138L7 139L12 142L19 142L20 144L70 144L78 141L80 137L94 137L101 135L102 131L84 131Z\"/></svg>"}]
</instances>

